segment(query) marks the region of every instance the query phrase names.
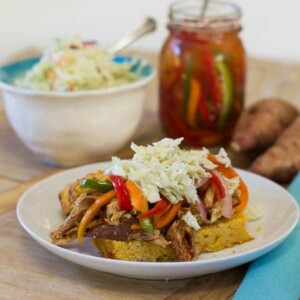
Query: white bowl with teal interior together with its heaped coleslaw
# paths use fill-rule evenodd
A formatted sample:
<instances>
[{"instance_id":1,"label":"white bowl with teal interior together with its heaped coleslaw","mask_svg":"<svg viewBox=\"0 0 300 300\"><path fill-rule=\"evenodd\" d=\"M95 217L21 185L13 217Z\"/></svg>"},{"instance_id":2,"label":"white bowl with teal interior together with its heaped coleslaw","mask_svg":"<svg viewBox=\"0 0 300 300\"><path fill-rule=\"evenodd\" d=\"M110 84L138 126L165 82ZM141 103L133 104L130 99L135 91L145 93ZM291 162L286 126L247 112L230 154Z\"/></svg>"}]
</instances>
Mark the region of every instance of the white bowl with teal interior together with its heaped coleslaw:
<instances>
[{"instance_id":1,"label":"white bowl with teal interior together with its heaped coleslaw","mask_svg":"<svg viewBox=\"0 0 300 300\"><path fill-rule=\"evenodd\" d=\"M8 120L44 160L73 166L110 157L143 114L154 68L93 42L56 42L43 56L0 67Z\"/></svg>"}]
</instances>

